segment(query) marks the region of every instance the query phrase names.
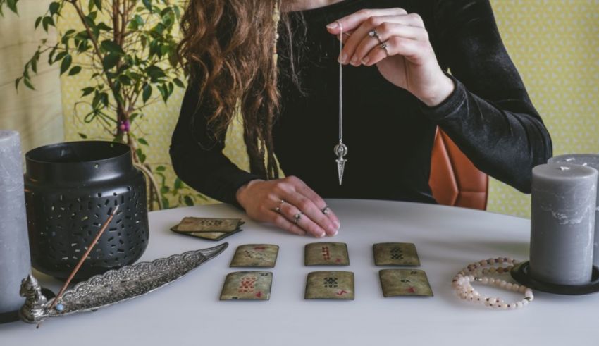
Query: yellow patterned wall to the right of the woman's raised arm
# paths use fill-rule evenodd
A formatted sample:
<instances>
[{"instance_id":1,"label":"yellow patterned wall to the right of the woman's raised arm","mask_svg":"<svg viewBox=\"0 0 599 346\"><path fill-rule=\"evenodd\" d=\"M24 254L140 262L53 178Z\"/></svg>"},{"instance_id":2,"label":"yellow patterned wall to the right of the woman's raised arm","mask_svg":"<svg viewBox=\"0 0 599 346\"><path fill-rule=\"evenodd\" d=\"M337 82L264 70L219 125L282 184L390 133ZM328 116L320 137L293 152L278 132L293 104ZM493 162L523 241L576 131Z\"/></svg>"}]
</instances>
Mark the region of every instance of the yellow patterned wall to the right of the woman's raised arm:
<instances>
[{"instance_id":1,"label":"yellow patterned wall to the right of the woman's raised arm","mask_svg":"<svg viewBox=\"0 0 599 346\"><path fill-rule=\"evenodd\" d=\"M491 2L553 153L599 153L599 1ZM529 216L530 196L493 180L488 210Z\"/></svg>"}]
</instances>

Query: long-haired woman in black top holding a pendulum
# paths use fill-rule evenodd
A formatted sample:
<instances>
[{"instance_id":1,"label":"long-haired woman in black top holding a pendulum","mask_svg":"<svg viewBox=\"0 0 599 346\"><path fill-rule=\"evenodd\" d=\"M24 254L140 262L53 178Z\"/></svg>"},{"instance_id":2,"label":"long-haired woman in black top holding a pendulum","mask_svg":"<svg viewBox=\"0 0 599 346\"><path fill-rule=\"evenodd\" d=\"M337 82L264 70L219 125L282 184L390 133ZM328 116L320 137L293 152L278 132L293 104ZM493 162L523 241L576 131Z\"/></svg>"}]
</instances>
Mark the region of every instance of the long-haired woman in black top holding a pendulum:
<instances>
[{"instance_id":1,"label":"long-haired woman in black top holding a pendulum","mask_svg":"<svg viewBox=\"0 0 599 346\"><path fill-rule=\"evenodd\" d=\"M551 140L487 0L283 0L278 25L276 6L190 1L180 55L192 78L171 145L185 183L254 220L335 235L323 198L435 202L428 177L440 127L479 169L530 192ZM350 149L342 185L338 61ZM237 107L251 172L222 154ZM274 154L288 178L278 178Z\"/></svg>"}]
</instances>

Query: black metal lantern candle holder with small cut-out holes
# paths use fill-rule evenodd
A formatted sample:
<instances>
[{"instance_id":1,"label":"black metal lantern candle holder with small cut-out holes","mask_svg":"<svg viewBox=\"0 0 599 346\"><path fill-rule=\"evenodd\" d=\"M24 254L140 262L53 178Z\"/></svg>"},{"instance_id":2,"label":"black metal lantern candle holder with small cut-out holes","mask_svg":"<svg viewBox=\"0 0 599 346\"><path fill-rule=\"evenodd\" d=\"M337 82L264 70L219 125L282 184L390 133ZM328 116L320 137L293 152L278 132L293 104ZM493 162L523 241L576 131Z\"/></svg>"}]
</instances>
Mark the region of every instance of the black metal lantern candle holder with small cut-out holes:
<instances>
[{"instance_id":1,"label":"black metal lantern candle holder with small cut-out holes","mask_svg":"<svg viewBox=\"0 0 599 346\"><path fill-rule=\"evenodd\" d=\"M128 145L67 142L25 155L25 202L32 266L67 278L101 225L118 206L75 279L132 264L147 247L144 175Z\"/></svg>"}]
</instances>

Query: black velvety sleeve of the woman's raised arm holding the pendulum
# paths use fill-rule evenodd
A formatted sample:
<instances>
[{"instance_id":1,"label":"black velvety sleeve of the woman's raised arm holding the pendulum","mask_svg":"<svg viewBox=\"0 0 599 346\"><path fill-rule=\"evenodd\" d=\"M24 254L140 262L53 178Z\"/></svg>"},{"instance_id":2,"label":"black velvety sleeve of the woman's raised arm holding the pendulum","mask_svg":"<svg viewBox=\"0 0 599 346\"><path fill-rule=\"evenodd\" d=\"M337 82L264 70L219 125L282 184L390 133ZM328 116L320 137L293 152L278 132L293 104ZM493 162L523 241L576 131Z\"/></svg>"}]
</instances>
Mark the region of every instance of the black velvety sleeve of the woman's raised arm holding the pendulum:
<instances>
[{"instance_id":1,"label":"black velvety sleeve of the woman's raised arm holding the pendulum","mask_svg":"<svg viewBox=\"0 0 599 346\"><path fill-rule=\"evenodd\" d=\"M548 130L502 43L488 0L440 0L442 37L455 91L426 115L481 171L530 193L532 168L552 156ZM443 33L441 33L443 32Z\"/></svg>"}]
</instances>

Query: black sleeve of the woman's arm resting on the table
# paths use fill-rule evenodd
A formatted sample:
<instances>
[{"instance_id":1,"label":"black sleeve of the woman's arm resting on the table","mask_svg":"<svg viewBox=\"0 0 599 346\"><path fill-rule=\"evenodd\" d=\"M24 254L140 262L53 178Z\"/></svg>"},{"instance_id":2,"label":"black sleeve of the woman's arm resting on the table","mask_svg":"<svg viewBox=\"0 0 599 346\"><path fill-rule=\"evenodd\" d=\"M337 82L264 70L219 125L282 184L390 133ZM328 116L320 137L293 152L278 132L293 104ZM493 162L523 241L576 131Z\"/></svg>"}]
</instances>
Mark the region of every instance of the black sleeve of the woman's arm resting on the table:
<instances>
[{"instance_id":1,"label":"black sleeve of the woman's arm resting on the table","mask_svg":"<svg viewBox=\"0 0 599 346\"><path fill-rule=\"evenodd\" d=\"M175 173L183 182L206 196L239 207L235 193L258 175L237 168L224 154L225 135L210 135L206 102L199 103L199 87L190 80L179 121L171 139L171 160Z\"/></svg>"}]
</instances>

